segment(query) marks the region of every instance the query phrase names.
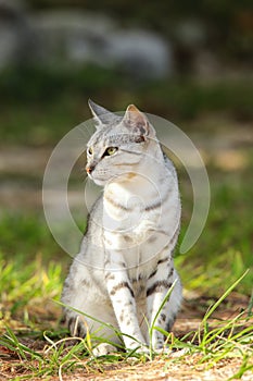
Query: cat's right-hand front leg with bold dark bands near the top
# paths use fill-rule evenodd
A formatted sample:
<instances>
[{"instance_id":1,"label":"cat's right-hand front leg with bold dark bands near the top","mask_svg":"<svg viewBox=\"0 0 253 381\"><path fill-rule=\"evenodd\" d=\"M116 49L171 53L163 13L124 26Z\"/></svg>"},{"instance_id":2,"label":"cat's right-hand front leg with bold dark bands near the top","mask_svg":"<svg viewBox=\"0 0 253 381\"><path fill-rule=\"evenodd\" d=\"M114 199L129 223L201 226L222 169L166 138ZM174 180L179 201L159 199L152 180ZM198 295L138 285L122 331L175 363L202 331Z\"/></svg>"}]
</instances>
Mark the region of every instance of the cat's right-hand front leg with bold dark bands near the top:
<instances>
[{"instance_id":1,"label":"cat's right-hand front leg with bold dark bands near the top","mask_svg":"<svg viewBox=\"0 0 253 381\"><path fill-rule=\"evenodd\" d=\"M161 308L169 290L168 299ZM173 259L165 253L147 282L147 303L150 327L153 324L170 331L181 303L181 285ZM163 333L154 329L150 344L154 351L161 349L164 345Z\"/></svg>"}]
</instances>

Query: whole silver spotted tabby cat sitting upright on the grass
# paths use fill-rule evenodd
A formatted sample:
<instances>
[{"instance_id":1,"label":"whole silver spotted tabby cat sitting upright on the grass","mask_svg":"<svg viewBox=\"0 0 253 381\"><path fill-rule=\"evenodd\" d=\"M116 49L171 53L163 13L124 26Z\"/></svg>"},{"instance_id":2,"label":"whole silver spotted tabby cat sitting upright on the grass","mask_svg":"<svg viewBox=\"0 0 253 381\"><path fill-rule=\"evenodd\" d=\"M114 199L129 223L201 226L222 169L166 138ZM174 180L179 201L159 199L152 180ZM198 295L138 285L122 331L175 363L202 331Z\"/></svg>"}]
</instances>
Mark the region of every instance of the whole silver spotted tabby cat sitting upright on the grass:
<instances>
[{"instance_id":1,"label":"whole silver spotted tabby cat sitting upright on the grass","mask_svg":"<svg viewBox=\"0 0 253 381\"><path fill-rule=\"evenodd\" d=\"M181 213L176 170L134 105L124 116L91 100L89 107L97 131L87 145L86 171L103 194L64 283L65 319L73 336L84 337L89 330L115 345L123 341L126 351L160 351L161 331L172 330L181 304L173 260ZM162 330L150 337L155 318ZM111 351L112 344L102 343L93 354Z\"/></svg>"}]
</instances>

